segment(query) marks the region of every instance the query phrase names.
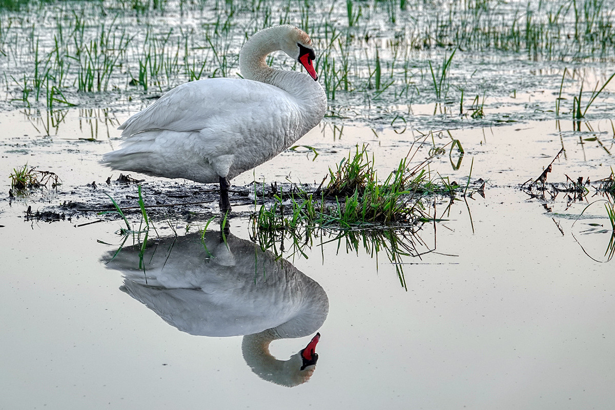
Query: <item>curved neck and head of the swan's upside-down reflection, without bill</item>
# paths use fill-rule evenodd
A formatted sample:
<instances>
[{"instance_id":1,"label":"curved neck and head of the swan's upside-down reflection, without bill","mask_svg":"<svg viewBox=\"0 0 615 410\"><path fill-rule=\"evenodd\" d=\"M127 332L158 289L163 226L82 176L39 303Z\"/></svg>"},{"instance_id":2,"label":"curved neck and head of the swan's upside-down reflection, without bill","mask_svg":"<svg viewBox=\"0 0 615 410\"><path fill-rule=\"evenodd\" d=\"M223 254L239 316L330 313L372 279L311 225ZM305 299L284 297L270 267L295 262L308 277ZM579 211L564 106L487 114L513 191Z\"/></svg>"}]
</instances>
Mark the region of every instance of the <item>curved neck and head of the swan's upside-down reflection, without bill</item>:
<instances>
[{"instance_id":1,"label":"curved neck and head of the swan's upside-down reflection, without bill","mask_svg":"<svg viewBox=\"0 0 615 410\"><path fill-rule=\"evenodd\" d=\"M314 373L315 365L301 369L300 353L292 355L288 360L278 360L269 352L269 344L280 339L274 329L244 336L241 348L244 360L252 371L261 379L276 384L292 387L307 382Z\"/></svg>"}]
</instances>

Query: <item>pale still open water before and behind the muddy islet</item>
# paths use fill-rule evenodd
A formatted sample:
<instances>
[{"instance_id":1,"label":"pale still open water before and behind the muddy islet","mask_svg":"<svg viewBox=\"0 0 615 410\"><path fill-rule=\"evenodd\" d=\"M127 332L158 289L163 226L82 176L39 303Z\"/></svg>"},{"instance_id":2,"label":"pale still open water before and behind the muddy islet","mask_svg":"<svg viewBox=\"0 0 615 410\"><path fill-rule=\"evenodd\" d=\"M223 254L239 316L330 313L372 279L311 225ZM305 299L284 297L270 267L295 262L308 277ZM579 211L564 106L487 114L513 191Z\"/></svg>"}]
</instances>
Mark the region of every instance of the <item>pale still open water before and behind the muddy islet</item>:
<instances>
[{"instance_id":1,"label":"pale still open water before and behind the muddy islet","mask_svg":"<svg viewBox=\"0 0 615 410\"><path fill-rule=\"evenodd\" d=\"M98 142L78 140L91 136L91 128L79 128L78 117L71 111L56 136L36 138L26 117L12 112L2 118L12 137L3 140L0 171L6 175L10 164L36 158L40 169L49 167L63 179L57 194L44 190L47 195L2 202L1 363L3 373L12 375L2 393L4 407L62 408L68 398L88 408L561 409L606 408L613 401L613 264L589 258L606 260L610 234L582 233L592 229L587 223L608 226L602 205L592 205L585 213L592 217L575 223L587 201L568 205L563 194L530 199L518 189L542 172L562 144L566 156L554 163L550 181L565 181L564 174L607 176L611 156L605 148L578 141L598 136L612 149L612 135L573 132L572 124L568 130L561 124L560 132L553 122L454 131L466 149L461 167L453 170L443 155L431 168L464 181L474 157L473 178L488 181L485 199L475 194L467 206L455 202L446 212L446 201L439 201L436 214L446 221L435 231L426 224L416 232L416 250L431 252L402 257L402 279L395 269L400 265L391 264L385 251L370 256L359 245L346 253L344 239L322 246L326 237L314 239L303 249L307 259L287 252L296 269L322 286L330 304L323 325L309 329L311 336L322 334L314 376L289 389L250 370L242 337L191 336L124 293L122 274L101 263L121 242L114 234L119 221L81 227L74 226L98 217L24 221L28 206L57 210L66 197L84 195L92 180L98 188L90 192L117 189L106 187L111 173L97 158L117 143L118 133L109 131L107 140L104 129ZM376 136L365 127L344 127L335 140L332 132L316 129L301 140L321 152L315 160L287 151L258 167L256 178L284 181L290 173L293 181L319 182L325 168L357 142L370 143L379 171L387 173L414 141L410 132L379 130ZM284 166L289 161L292 170ZM243 175L236 183L252 178ZM154 182L148 178L143 185L146 199ZM175 183L157 184L164 189ZM201 210L211 215L215 204ZM183 236L186 222L173 221ZM249 241L247 219L230 224L231 234ZM158 226L161 235L172 235L164 221ZM285 360L309 338L274 341L271 352ZM29 394L34 386L38 393Z\"/></svg>"}]
</instances>

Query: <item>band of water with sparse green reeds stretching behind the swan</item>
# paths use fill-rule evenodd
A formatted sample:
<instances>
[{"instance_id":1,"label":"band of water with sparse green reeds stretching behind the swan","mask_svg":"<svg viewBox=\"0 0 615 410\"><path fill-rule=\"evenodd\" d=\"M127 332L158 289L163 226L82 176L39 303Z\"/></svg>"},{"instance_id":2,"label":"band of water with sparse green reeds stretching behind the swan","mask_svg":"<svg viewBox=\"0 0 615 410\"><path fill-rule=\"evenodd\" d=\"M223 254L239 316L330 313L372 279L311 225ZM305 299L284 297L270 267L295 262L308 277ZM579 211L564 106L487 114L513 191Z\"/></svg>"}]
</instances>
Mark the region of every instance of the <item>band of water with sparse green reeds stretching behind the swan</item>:
<instances>
[{"instance_id":1,"label":"band of water with sparse green reeds stretching behind the swan","mask_svg":"<svg viewBox=\"0 0 615 410\"><path fill-rule=\"evenodd\" d=\"M609 112L603 87L614 74L612 6L606 0L8 1L0 7L0 86L4 108L99 108L104 101L105 108L125 109L186 81L237 76L245 39L290 23L316 41L330 122L403 120L434 129L599 119ZM285 59L271 62L296 68ZM519 98L539 90L544 94L534 95L528 109L516 109L525 104ZM434 103L437 116L413 116Z\"/></svg>"}]
</instances>

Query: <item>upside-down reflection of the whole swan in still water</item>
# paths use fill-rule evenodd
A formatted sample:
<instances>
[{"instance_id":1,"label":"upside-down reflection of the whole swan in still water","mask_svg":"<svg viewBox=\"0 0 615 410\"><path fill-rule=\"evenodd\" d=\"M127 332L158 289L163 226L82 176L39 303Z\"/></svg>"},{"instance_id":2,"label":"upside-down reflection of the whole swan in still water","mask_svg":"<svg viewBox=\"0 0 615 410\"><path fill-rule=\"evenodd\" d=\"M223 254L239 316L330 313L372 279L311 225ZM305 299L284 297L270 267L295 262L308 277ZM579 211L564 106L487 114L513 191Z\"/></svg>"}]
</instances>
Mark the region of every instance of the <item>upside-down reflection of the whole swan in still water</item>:
<instances>
[{"instance_id":1,"label":"upside-down reflection of the whole swan in still water","mask_svg":"<svg viewBox=\"0 0 615 410\"><path fill-rule=\"evenodd\" d=\"M169 251L167 251L169 250ZM165 239L143 255L139 246L114 251L103 260L124 274L122 290L169 325L199 336L238 336L247 365L259 377L292 387L314 373L320 334L288 360L269 352L277 339L313 334L327 318L327 294L317 282L284 259L247 240L208 231Z\"/></svg>"}]
</instances>

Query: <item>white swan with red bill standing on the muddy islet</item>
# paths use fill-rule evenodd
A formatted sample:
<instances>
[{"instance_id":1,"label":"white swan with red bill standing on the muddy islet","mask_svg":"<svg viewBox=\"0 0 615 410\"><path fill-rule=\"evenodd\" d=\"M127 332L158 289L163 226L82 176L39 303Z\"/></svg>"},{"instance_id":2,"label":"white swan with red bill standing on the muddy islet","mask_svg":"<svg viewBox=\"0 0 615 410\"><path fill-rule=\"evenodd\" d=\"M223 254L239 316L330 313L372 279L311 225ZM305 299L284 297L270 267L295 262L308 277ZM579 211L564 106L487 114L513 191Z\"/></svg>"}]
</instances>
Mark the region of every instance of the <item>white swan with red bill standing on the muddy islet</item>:
<instances>
[{"instance_id":1,"label":"white swan with red bill standing on the muddy islet","mask_svg":"<svg viewBox=\"0 0 615 410\"><path fill-rule=\"evenodd\" d=\"M269 67L282 50L308 71ZM220 184L220 210L230 211L229 180L287 149L322 120L327 97L312 66L308 34L293 26L258 31L239 53L243 79L188 82L130 117L118 129L121 149L103 164L166 178Z\"/></svg>"}]
</instances>

